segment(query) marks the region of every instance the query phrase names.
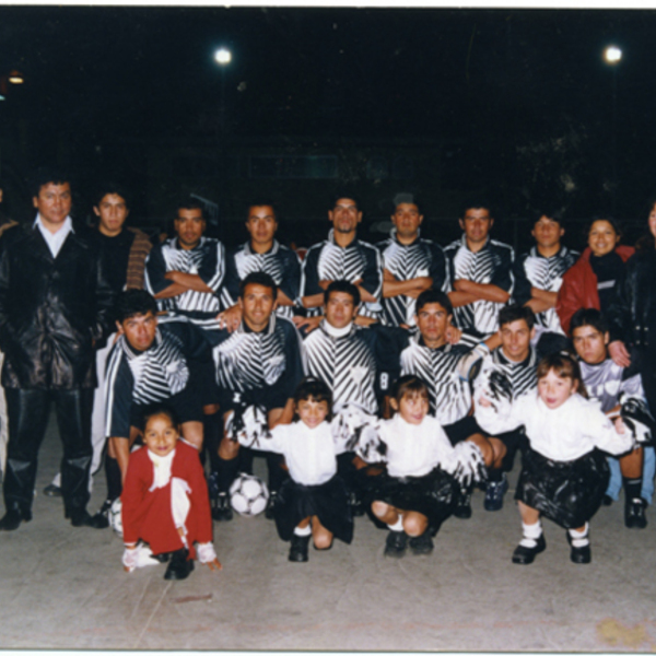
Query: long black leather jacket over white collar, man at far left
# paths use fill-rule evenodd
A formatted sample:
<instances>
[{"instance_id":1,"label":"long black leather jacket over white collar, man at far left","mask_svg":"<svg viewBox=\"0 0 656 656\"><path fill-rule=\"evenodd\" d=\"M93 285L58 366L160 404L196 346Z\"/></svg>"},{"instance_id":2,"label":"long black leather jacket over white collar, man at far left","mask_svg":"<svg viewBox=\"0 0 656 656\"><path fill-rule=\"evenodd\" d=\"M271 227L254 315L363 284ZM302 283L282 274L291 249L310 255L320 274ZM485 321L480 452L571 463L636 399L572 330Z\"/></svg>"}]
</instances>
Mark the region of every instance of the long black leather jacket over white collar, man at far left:
<instances>
[{"instance_id":1,"label":"long black leather jacket over white collar, man at far left","mask_svg":"<svg viewBox=\"0 0 656 656\"><path fill-rule=\"evenodd\" d=\"M8 230L0 238L2 385L95 387L94 343L107 335L113 301L89 229L75 226L56 259L38 227Z\"/></svg>"}]
</instances>

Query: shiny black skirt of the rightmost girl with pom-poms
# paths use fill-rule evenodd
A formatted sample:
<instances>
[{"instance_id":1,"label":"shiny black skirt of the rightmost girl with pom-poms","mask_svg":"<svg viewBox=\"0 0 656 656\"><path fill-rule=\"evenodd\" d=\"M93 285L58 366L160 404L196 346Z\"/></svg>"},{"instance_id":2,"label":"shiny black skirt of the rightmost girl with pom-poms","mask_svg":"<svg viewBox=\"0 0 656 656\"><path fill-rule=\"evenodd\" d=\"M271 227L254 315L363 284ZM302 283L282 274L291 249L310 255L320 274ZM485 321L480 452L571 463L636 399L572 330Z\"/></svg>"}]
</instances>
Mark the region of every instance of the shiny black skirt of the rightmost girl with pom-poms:
<instances>
[{"instance_id":1,"label":"shiny black skirt of the rightmost girl with pom-poms","mask_svg":"<svg viewBox=\"0 0 656 656\"><path fill-rule=\"evenodd\" d=\"M578 528L599 509L609 478L606 457L597 449L559 462L528 448L515 499L563 528Z\"/></svg>"}]
</instances>

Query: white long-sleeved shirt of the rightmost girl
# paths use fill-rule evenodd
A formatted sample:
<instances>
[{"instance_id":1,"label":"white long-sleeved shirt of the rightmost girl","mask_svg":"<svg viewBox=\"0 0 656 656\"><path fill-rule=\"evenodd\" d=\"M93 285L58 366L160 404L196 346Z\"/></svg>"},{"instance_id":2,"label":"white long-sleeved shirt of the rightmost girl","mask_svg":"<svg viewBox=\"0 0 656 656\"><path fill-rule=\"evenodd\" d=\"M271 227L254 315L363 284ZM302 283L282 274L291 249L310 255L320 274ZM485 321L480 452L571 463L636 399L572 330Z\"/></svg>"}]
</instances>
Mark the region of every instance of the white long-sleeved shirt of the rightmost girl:
<instances>
[{"instance_id":1,"label":"white long-sleeved shirt of the rightmost girl","mask_svg":"<svg viewBox=\"0 0 656 656\"><path fill-rule=\"evenodd\" d=\"M509 414L505 415L493 408L481 407L477 399L476 420L492 434L524 425L531 448L561 462L576 460L595 447L619 455L633 446L630 431L623 435L617 433L600 405L579 394L573 394L562 406L551 409L537 390L528 393L514 401Z\"/></svg>"}]
</instances>

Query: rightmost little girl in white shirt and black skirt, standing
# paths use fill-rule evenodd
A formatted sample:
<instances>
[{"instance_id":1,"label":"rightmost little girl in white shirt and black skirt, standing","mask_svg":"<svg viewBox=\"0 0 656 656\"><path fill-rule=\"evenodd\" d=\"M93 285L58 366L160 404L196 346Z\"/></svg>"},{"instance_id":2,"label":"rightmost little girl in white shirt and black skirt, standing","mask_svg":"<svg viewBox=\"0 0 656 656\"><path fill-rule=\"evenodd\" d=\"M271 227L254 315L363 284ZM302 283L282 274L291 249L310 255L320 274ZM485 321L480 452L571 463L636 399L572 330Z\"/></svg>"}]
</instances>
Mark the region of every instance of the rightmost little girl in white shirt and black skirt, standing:
<instances>
[{"instance_id":1,"label":"rightmost little girl in white shirt and black skirt, standing","mask_svg":"<svg viewBox=\"0 0 656 656\"><path fill-rule=\"evenodd\" d=\"M601 504L609 477L597 449L624 454L634 440L621 420L613 425L599 405L586 398L581 370L569 353L544 358L537 376L537 391L505 412L485 396L476 399L476 418L484 430L500 433L524 425L530 445L515 493L524 538L513 562L528 565L544 551L544 515L567 529L572 562L589 563L588 522Z\"/></svg>"}]
</instances>

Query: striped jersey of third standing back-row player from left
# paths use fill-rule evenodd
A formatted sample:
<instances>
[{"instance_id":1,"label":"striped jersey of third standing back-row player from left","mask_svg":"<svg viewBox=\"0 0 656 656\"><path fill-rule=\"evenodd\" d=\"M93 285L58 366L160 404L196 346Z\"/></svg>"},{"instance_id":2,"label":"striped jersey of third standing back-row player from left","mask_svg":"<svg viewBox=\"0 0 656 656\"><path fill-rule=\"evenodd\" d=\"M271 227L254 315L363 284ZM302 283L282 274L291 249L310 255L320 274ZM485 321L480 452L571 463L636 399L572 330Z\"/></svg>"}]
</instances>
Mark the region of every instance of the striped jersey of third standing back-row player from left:
<instances>
[{"instance_id":1,"label":"striped jersey of third standing back-row player from left","mask_svg":"<svg viewBox=\"0 0 656 656\"><path fill-rule=\"evenodd\" d=\"M320 280L348 280L349 282L362 280L362 286L378 302L363 303L360 314L371 317L382 315L383 262L380 253L375 246L353 239L349 246L342 248L335 243L331 230L327 239L307 249L301 266L300 296L323 294ZM314 307L306 312L307 316L318 316L323 311L320 307Z\"/></svg>"}]
</instances>

